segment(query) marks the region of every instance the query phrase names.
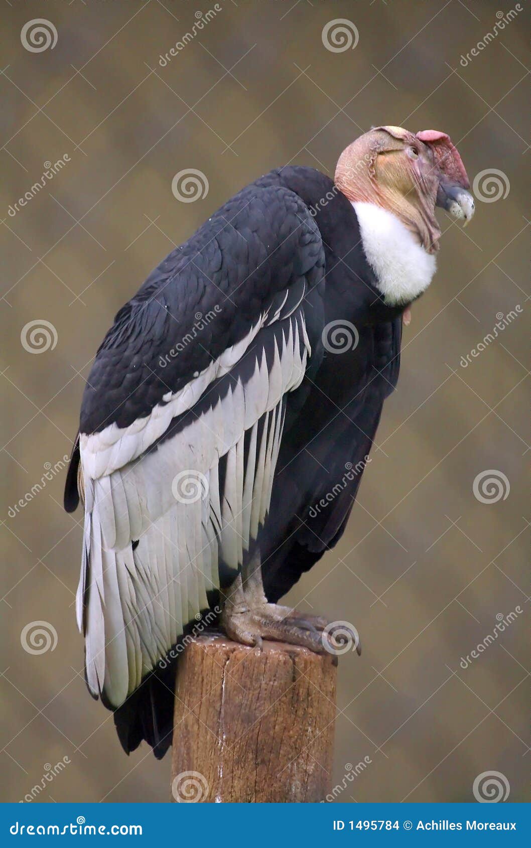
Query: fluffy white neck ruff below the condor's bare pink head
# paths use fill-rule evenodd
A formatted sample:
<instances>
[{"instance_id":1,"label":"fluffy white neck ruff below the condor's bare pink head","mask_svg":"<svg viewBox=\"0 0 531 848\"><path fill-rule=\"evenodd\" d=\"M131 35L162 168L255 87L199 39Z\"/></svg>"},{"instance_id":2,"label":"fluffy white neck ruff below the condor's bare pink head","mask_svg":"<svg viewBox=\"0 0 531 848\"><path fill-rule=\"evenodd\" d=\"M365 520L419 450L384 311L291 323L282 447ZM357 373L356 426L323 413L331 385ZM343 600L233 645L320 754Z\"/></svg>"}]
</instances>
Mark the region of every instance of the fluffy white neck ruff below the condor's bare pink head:
<instances>
[{"instance_id":1,"label":"fluffy white neck ruff below the condor's bare pink head","mask_svg":"<svg viewBox=\"0 0 531 848\"><path fill-rule=\"evenodd\" d=\"M376 204L352 204L360 224L366 259L377 276L377 287L388 306L411 304L424 292L436 269L433 254L388 209Z\"/></svg>"}]
</instances>

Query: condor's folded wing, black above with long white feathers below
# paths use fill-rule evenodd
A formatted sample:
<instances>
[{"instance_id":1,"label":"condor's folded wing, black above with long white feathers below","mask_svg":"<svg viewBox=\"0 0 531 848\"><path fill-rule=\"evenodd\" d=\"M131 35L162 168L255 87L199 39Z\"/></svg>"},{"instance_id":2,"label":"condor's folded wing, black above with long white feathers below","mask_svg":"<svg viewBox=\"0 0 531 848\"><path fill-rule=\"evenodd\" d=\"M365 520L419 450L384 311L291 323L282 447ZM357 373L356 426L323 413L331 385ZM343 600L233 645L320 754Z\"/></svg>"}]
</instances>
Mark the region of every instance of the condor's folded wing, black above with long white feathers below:
<instances>
[{"instance_id":1,"label":"condor's folded wing, black above with long white feathers below","mask_svg":"<svg viewBox=\"0 0 531 848\"><path fill-rule=\"evenodd\" d=\"M110 706L164 660L265 520L323 266L300 198L249 187L165 259L98 350L81 406L77 615L89 689Z\"/></svg>"}]
</instances>

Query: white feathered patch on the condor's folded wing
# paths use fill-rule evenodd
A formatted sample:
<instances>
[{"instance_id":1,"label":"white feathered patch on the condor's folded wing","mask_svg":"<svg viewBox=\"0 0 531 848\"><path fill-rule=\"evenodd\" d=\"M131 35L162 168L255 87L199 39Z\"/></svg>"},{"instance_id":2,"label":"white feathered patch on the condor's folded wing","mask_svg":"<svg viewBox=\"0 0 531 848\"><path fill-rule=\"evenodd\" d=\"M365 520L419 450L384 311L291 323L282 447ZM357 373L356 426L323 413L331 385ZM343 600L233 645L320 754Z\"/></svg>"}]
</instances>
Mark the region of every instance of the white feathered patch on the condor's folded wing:
<instances>
[{"instance_id":1,"label":"white feathered patch on the condor's folded wing","mask_svg":"<svg viewBox=\"0 0 531 848\"><path fill-rule=\"evenodd\" d=\"M86 516L76 608L89 687L113 706L126 700L187 622L209 606L206 593L219 589L219 561L238 569L265 521L284 396L302 382L310 354L302 310L290 310L265 330L271 331L276 334L269 363L265 349L249 351L258 332L253 328L253 338L249 333L246 343L215 364L217 377L222 369L231 375L226 393L210 407L202 404L190 423L147 453L139 455L146 438L153 444L174 416L193 406L212 374L207 379L205 371L168 406L155 407L142 427L135 422L118 438L112 427L81 436ZM238 363L246 353L254 368L251 360L243 384ZM169 409L169 417L163 416Z\"/></svg>"}]
</instances>

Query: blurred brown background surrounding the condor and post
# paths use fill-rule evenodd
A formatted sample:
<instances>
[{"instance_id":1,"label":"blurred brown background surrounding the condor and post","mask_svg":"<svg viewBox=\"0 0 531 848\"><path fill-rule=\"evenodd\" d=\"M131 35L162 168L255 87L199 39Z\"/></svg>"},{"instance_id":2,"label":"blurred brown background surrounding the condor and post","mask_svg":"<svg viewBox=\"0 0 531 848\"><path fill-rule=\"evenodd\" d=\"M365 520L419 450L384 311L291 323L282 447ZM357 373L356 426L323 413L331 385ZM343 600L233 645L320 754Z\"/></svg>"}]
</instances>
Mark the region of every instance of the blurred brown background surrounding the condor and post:
<instances>
[{"instance_id":1,"label":"blurred brown background surrounding the condor and post","mask_svg":"<svg viewBox=\"0 0 531 848\"><path fill-rule=\"evenodd\" d=\"M364 758L366 767L337 801L472 801L474 779L493 770L523 801L526 11L478 49L513 3L225 0L162 67L159 55L213 8L3 3L3 800L22 799L64 757L36 800L168 798L169 757L155 762L143 745L127 758L111 714L87 694L73 608L82 516L62 510L64 471L54 470L116 310L239 187L289 162L333 175L354 137L394 124L449 132L471 181L487 171L476 186L483 201L465 231L442 215L439 271L405 330L381 449L341 543L289 601L361 633L361 659L339 663L333 782ZM36 18L55 27L55 47L25 48L21 30ZM324 45L336 19L350 21L353 43L355 25L354 49ZM62 170L9 213L64 154ZM192 168L209 191L181 203L171 181ZM517 305L499 338L460 365ZM52 325L49 342L31 342L32 321ZM52 479L14 510L48 464ZM501 488L483 503L472 486L487 470ZM522 614L463 668L496 616L517 606ZM31 622L47 622L50 650L23 650Z\"/></svg>"}]
</instances>

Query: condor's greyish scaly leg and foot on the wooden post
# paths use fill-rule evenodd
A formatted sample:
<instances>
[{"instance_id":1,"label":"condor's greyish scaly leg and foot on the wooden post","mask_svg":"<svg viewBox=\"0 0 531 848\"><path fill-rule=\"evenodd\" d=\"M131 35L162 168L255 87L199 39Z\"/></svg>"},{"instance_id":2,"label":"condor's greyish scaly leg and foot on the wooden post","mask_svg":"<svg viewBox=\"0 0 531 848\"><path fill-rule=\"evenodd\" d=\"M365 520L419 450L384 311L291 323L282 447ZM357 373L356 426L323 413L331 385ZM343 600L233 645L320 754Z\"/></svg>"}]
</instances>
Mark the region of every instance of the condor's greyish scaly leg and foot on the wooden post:
<instances>
[{"instance_id":1,"label":"condor's greyish scaly leg and foot on the wooden post","mask_svg":"<svg viewBox=\"0 0 531 848\"><path fill-rule=\"evenodd\" d=\"M265 597L257 551L232 583L221 613L221 627L231 639L261 647L263 639L298 644L316 653L343 653L351 644L358 653L359 639L354 628L334 628L325 618L308 616L289 606L269 604ZM335 630L339 638L335 638ZM348 648L346 649L348 650Z\"/></svg>"}]
</instances>

